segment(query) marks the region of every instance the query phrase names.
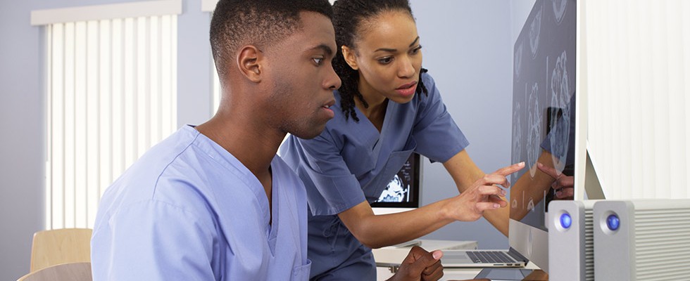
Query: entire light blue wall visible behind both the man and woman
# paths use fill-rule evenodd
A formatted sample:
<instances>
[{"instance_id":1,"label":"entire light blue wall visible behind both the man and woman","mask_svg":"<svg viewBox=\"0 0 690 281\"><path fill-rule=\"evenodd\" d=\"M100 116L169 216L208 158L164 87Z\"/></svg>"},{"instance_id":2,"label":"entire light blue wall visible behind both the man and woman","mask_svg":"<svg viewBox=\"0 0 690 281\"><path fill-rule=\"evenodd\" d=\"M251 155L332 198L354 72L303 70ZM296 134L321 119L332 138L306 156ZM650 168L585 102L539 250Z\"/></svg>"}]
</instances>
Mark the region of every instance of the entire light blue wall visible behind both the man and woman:
<instances>
[{"instance_id":1,"label":"entire light blue wall visible behind both the man and woman","mask_svg":"<svg viewBox=\"0 0 690 281\"><path fill-rule=\"evenodd\" d=\"M123 0L0 1L0 280L16 280L28 272L32 234L44 227L44 46L41 28L29 25L30 11L119 2ZM209 18L201 13L200 2L184 0L178 18L179 125L199 124L211 112ZM484 171L509 164L512 42L534 0L412 4L425 67L470 138L470 155ZM441 164L425 165L423 184L425 204L457 194ZM453 223L428 237L477 240L484 248L507 246L485 221Z\"/></svg>"}]
</instances>

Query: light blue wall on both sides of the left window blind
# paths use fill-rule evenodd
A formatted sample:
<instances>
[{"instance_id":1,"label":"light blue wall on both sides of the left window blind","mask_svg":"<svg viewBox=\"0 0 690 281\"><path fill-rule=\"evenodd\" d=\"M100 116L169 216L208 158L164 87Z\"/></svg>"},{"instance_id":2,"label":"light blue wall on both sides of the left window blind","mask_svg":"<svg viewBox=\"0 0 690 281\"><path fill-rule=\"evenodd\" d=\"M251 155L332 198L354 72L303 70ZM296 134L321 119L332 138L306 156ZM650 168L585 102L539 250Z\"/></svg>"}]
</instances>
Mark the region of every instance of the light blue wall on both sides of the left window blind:
<instances>
[{"instance_id":1,"label":"light blue wall on both sides of the left window blind","mask_svg":"<svg viewBox=\"0 0 690 281\"><path fill-rule=\"evenodd\" d=\"M136 0L0 1L0 280L29 272L33 233L44 228L44 45L30 12ZM177 124L211 116L210 16L183 0L177 19Z\"/></svg>"}]
</instances>

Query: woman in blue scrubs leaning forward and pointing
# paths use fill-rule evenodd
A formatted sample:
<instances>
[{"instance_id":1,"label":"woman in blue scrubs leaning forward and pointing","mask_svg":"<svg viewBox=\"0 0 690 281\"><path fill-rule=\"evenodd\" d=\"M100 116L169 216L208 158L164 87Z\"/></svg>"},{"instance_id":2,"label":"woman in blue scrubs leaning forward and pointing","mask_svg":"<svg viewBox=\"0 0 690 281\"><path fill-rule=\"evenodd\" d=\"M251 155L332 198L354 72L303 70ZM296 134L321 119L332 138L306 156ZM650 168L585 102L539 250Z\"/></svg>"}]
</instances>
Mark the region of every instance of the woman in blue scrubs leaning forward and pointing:
<instances>
[{"instance_id":1,"label":"woman in blue scrubs leaning forward and pointing","mask_svg":"<svg viewBox=\"0 0 690 281\"><path fill-rule=\"evenodd\" d=\"M375 280L370 248L421 237L482 215L508 233L501 197L515 164L484 174L468 140L422 69L420 37L407 0L338 0L333 23L335 117L320 136L291 136L281 155L304 181L312 280ZM410 153L442 162L460 195L398 214L374 215L376 200Z\"/></svg>"}]
</instances>

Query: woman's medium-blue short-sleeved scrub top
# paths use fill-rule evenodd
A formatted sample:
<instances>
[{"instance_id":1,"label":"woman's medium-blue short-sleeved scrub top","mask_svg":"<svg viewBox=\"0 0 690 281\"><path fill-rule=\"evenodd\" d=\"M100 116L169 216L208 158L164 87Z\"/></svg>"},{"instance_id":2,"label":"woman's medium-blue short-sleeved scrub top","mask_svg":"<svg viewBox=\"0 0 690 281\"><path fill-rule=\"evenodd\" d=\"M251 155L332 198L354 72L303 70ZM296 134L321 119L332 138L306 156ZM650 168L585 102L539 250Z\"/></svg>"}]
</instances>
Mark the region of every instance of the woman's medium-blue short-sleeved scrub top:
<instances>
[{"instance_id":1,"label":"woman's medium-blue short-sleeved scrub top","mask_svg":"<svg viewBox=\"0 0 690 281\"><path fill-rule=\"evenodd\" d=\"M339 214L367 200L372 202L412 152L432 162L446 162L469 145L446 110L429 74L422 74L428 95L409 103L389 102L379 132L362 112L355 122L341 110L334 91L335 113L320 136L304 140L290 136L281 157L302 179L314 216Z\"/></svg>"}]
</instances>

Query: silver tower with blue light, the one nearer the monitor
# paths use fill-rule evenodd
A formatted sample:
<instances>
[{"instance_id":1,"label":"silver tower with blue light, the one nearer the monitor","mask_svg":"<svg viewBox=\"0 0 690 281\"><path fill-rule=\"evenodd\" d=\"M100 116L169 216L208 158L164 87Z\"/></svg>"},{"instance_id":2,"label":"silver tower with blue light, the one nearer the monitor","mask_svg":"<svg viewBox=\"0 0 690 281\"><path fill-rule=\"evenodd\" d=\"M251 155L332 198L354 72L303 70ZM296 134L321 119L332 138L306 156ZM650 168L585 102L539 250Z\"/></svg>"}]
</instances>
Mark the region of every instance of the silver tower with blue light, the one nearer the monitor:
<instances>
[{"instance_id":1,"label":"silver tower with blue light, the one nearer the monitor","mask_svg":"<svg viewBox=\"0 0 690 281\"><path fill-rule=\"evenodd\" d=\"M550 280L594 280L594 202L553 200L548 204Z\"/></svg>"}]
</instances>

